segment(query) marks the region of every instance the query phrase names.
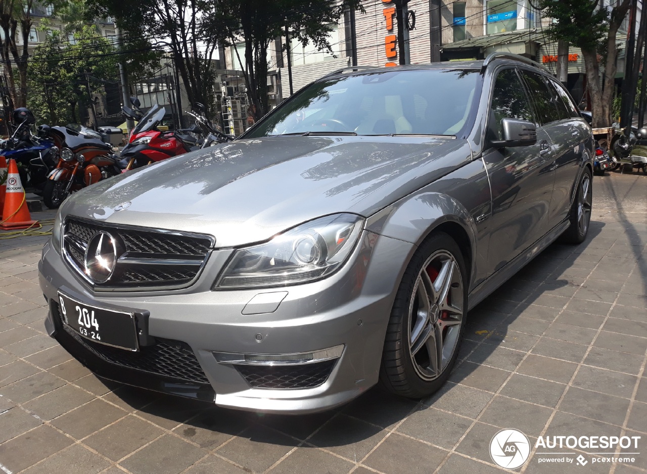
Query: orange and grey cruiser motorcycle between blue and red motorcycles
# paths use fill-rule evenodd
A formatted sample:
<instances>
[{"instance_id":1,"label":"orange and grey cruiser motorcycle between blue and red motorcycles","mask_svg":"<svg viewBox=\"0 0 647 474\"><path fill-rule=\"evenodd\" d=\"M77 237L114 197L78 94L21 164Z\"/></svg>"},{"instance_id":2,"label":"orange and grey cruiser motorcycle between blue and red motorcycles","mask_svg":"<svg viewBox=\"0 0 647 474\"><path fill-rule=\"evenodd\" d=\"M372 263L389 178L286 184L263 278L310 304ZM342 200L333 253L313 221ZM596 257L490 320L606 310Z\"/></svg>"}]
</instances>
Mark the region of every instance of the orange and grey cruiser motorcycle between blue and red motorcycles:
<instances>
[{"instance_id":1,"label":"orange and grey cruiser motorcycle between blue and red motorcycles","mask_svg":"<svg viewBox=\"0 0 647 474\"><path fill-rule=\"evenodd\" d=\"M96 131L67 125L50 127L48 135L60 150L56 168L43 189L43 202L48 208L56 209L73 191L121 172L112 146L102 141Z\"/></svg>"}]
</instances>

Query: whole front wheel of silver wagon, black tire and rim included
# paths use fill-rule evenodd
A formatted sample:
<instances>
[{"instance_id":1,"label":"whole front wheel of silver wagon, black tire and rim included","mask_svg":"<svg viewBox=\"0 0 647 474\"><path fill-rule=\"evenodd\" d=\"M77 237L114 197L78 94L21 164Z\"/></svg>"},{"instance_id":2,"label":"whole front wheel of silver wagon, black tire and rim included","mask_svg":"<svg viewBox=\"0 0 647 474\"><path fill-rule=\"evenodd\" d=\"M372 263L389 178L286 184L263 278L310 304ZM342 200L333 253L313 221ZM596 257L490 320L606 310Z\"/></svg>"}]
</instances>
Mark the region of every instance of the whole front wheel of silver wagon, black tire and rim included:
<instances>
[{"instance_id":1,"label":"whole front wheel of silver wagon, black tire and rim included","mask_svg":"<svg viewBox=\"0 0 647 474\"><path fill-rule=\"evenodd\" d=\"M433 233L413 254L393 303L380 367L384 389L422 398L443 386L463 339L467 288L459 246Z\"/></svg>"}]
</instances>

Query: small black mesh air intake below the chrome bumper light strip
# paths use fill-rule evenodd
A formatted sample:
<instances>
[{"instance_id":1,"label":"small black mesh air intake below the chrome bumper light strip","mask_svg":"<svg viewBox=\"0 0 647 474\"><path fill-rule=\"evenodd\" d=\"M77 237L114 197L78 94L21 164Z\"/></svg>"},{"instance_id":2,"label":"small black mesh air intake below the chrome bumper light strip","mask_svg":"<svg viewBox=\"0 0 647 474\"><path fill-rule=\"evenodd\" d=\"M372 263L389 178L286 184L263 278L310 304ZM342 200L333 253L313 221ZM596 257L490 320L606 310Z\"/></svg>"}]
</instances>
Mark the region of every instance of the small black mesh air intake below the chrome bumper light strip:
<instances>
[{"instance_id":1,"label":"small black mesh air intake below the chrome bumper light strip","mask_svg":"<svg viewBox=\"0 0 647 474\"><path fill-rule=\"evenodd\" d=\"M311 389L325 382L336 360L300 365L235 365L255 389Z\"/></svg>"}]
</instances>

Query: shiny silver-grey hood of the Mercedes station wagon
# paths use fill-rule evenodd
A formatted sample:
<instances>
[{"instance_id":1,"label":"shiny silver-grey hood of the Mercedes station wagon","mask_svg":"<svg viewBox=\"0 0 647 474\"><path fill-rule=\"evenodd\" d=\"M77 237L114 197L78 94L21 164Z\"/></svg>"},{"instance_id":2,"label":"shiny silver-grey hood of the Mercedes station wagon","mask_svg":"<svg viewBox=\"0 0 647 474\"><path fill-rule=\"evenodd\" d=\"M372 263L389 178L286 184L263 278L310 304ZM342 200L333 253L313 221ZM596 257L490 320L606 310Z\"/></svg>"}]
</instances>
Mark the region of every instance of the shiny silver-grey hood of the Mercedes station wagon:
<instances>
[{"instance_id":1,"label":"shiny silver-grey hood of the Mercedes station wagon","mask_svg":"<svg viewBox=\"0 0 647 474\"><path fill-rule=\"evenodd\" d=\"M208 233L217 247L239 246L322 215L368 217L470 159L465 141L444 137L237 140L89 186L61 212Z\"/></svg>"}]
</instances>

